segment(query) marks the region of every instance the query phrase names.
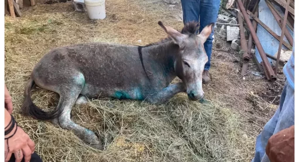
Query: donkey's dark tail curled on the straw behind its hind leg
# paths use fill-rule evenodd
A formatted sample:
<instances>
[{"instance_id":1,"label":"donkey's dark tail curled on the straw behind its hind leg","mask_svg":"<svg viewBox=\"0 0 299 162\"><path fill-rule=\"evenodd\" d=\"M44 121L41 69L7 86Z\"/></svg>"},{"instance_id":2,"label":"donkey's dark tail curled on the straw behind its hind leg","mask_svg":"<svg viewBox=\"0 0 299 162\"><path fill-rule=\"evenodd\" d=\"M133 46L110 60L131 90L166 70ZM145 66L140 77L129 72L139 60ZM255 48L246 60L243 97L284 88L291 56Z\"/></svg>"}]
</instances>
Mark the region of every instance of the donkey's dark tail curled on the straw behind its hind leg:
<instances>
[{"instance_id":1,"label":"donkey's dark tail curled on the straw behind its hind leg","mask_svg":"<svg viewBox=\"0 0 299 162\"><path fill-rule=\"evenodd\" d=\"M57 107L54 111L45 112L33 103L31 99L31 89L34 87L34 85L34 80L32 77L30 77L29 83L25 88L25 98L21 107L23 114L33 116L34 118L39 120L51 120L57 118L61 113L60 110L57 109Z\"/></svg>"}]
</instances>

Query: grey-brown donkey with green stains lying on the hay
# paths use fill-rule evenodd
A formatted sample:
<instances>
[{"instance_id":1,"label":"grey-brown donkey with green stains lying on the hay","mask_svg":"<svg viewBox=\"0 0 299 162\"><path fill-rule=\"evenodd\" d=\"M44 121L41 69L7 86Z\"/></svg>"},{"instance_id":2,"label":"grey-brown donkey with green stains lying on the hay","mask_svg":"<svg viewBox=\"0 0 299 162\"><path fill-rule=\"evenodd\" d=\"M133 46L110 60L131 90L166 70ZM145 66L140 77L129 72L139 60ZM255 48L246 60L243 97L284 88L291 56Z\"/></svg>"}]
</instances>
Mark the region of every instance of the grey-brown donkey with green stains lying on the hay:
<instances>
[{"instance_id":1,"label":"grey-brown donkey with green stains lying on the hay","mask_svg":"<svg viewBox=\"0 0 299 162\"><path fill-rule=\"evenodd\" d=\"M159 104L179 92L187 92L193 101L201 99L202 72L208 61L204 42L214 24L207 25L199 35L195 22L186 24L181 33L161 21L158 24L168 37L144 47L94 42L51 50L33 68L22 112L74 130L84 142L102 150L94 132L71 120L75 103L110 97ZM170 84L176 76L181 82ZM31 89L35 84L59 94L54 111L45 112L33 104Z\"/></svg>"}]
</instances>

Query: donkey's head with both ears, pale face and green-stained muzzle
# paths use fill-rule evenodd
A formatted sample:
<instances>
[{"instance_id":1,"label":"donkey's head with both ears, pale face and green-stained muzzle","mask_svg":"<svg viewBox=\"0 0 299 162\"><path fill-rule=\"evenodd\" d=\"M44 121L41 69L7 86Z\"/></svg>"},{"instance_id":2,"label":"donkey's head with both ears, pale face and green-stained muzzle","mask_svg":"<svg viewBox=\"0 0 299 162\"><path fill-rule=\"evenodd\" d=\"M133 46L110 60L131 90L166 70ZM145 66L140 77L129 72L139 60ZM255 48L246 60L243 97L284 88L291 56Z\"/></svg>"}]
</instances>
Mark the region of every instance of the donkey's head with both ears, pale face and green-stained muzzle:
<instances>
[{"instance_id":1,"label":"donkey's head with both ears, pale face and green-stained muzzle","mask_svg":"<svg viewBox=\"0 0 299 162\"><path fill-rule=\"evenodd\" d=\"M179 52L174 57L174 68L176 75L187 88L189 99L193 101L201 99L204 96L202 73L208 61L204 43L211 34L214 24L207 25L199 35L196 34L198 25L195 22L187 23L181 33L165 26L161 21L158 24L179 46Z\"/></svg>"}]
</instances>

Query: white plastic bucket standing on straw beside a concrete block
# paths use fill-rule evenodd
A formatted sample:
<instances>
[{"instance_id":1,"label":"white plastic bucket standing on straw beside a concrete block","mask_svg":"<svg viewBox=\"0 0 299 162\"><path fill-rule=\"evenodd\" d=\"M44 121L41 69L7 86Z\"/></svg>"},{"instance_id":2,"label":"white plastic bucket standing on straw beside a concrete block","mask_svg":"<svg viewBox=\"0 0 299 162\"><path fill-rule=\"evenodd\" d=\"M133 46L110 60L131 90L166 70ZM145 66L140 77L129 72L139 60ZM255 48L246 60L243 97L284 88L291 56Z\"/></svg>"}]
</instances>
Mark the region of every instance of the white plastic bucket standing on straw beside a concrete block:
<instances>
[{"instance_id":1,"label":"white plastic bucket standing on straw beside a concrete block","mask_svg":"<svg viewBox=\"0 0 299 162\"><path fill-rule=\"evenodd\" d=\"M104 19L106 17L105 0L84 0L84 4L90 19Z\"/></svg>"}]
</instances>

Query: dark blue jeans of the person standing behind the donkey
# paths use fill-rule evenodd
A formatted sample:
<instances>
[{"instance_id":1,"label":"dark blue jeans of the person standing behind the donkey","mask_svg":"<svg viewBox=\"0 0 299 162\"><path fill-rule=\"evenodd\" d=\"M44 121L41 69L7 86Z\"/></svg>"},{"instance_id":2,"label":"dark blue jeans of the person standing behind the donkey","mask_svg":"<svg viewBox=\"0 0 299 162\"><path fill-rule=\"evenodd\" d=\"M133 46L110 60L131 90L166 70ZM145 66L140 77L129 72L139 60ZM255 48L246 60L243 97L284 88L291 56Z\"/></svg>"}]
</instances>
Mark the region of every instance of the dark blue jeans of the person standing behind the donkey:
<instances>
[{"instance_id":1,"label":"dark blue jeans of the person standing behind the donkey","mask_svg":"<svg viewBox=\"0 0 299 162\"><path fill-rule=\"evenodd\" d=\"M189 21L199 21L199 33L202 29L210 23L215 23L220 7L220 0L181 0L183 9L183 21L186 24ZM214 29L204 43L205 51L208 55L208 62L205 64L205 70L210 69L210 61L212 54L212 41Z\"/></svg>"}]
</instances>

